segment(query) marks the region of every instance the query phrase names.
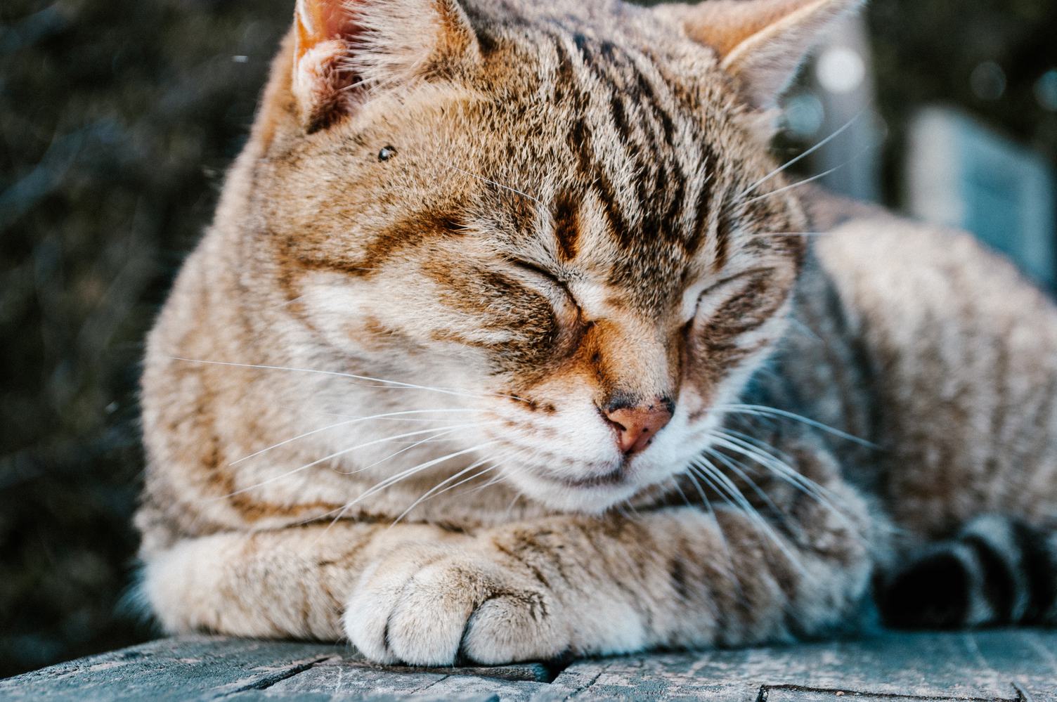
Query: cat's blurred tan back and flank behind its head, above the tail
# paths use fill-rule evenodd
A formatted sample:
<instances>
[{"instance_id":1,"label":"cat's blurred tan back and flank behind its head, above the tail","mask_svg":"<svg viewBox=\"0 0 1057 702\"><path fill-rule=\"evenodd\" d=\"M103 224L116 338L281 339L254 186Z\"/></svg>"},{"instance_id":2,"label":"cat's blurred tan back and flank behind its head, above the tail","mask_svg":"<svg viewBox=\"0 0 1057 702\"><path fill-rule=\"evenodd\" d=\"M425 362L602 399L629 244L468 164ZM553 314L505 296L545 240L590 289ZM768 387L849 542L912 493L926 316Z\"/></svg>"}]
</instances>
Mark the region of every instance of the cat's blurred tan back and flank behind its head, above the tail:
<instances>
[{"instance_id":1,"label":"cat's blurred tan back and flank behind its head, above the tail","mask_svg":"<svg viewBox=\"0 0 1057 702\"><path fill-rule=\"evenodd\" d=\"M980 512L1057 519L1052 300L968 234L808 206L828 234L787 357L812 359L814 412L878 444L865 479L896 520L934 536Z\"/></svg>"}]
</instances>

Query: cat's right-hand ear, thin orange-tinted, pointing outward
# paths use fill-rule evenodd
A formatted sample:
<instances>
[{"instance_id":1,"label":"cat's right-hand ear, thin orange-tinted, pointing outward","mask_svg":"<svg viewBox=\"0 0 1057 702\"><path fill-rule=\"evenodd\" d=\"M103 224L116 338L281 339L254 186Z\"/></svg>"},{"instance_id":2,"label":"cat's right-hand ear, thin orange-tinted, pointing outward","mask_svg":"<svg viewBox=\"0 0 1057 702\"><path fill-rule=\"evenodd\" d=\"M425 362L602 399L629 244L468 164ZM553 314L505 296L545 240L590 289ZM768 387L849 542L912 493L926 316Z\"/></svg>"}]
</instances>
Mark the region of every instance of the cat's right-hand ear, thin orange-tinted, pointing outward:
<instances>
[{"instance_id":1,"label":"cat's right-hand ear, thin orange-tinted, pointing outward","mask_svg":"<svg viewBox=\"0 0 1057 702\"><path fill-rule=\"evenodd\" d=\"M719 54L745 100L774 107L826 30L861 0L704 0L661 10Z\"/></svg>"}]
</instances>

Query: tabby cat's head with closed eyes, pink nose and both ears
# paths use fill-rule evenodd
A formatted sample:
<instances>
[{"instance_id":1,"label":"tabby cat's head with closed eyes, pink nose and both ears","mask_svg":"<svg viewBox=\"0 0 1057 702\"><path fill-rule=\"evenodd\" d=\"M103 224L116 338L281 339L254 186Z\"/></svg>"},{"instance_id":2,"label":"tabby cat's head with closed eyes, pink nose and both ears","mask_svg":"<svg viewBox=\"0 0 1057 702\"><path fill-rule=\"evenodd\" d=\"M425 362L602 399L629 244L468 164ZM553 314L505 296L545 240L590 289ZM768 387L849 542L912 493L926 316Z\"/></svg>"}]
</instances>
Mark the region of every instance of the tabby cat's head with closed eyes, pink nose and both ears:
<instances>
[{"instance_id":1,"label":"tabby cat's head with closed eyes, pink nose and both ears","mask_svg":"<svg viewBox=\"0 0 1057 702\"><path fill-rule=\"evenodd\" d=\"M453 388L457 447L596 512L685 469L783 333L805 224L763 125L853 2L543 4L298 0L252 258L318 357Z\"/></svg>"}]
</instances>

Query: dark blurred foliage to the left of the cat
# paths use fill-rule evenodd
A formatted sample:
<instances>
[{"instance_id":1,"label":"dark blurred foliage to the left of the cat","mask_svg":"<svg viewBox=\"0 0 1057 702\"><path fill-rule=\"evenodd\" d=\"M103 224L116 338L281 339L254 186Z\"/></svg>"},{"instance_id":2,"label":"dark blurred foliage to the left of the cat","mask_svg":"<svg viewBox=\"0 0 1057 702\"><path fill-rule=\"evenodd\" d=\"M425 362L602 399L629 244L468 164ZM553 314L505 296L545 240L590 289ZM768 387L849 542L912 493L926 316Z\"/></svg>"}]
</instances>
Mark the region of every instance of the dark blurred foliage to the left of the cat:
<instances>
[{"instance_id":1,"label":"dark blurred foliage to the left of the cat","mask_svg":"<svg viewBox=\"0 0 1057 702\"><path fill-rule=\"evenodd\" d=\"M117 608L143 338L291 12L0 2L0 677L150 634Z\"/></svg>"}]
</instances>

